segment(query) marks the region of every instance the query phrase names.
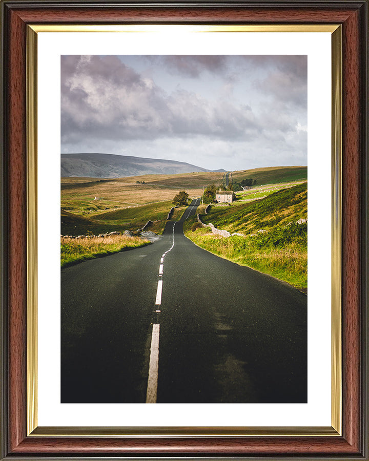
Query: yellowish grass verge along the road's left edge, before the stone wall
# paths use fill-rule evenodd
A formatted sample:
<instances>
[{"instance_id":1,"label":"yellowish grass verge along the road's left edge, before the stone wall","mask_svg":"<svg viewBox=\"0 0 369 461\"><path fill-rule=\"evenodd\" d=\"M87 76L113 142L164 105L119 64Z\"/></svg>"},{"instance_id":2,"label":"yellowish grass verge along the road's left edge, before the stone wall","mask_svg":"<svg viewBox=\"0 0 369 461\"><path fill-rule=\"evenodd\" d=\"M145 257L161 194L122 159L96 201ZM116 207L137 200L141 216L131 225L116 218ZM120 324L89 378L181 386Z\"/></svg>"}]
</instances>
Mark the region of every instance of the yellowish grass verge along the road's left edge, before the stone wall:
<instances>
[{"instance_id":1,"label":"yellowish grass verge along the road's left edge, before the stone wall","mask_svg":"<svg viewBox=\"0 0 369 461\"><path fill-rule=\"evenodd\" d=\"M111 255L125 249L145 246L149 243L149 240L124 235L86 237L81 239L61 237L60 263L61 267L67 267L87 259Z\"/></svg>"}]
</instances>

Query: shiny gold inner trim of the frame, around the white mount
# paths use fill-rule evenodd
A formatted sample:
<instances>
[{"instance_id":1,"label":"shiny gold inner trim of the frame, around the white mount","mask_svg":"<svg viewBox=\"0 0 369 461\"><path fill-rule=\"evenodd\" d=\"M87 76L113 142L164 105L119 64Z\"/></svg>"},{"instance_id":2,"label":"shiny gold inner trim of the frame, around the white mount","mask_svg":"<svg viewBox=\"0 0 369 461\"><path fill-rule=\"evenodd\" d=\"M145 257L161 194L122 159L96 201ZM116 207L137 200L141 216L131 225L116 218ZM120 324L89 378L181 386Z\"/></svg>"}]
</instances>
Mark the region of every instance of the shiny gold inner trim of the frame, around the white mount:
<instances>
[{"instance_id":1,"label":"shiny gold inner trim of the frame, around the white mount","mask_svg":"<svg viewBox=\"0 0 369 461\"><path fill-rule=\"evenodd\" d=\"M327 427L38 427L37 424L37 33L327 32L332 34L332 426ZM342 432L340 25L28 25L27 26L27 433L76 437L339 436Z\"/></svg>"}]
</instances>

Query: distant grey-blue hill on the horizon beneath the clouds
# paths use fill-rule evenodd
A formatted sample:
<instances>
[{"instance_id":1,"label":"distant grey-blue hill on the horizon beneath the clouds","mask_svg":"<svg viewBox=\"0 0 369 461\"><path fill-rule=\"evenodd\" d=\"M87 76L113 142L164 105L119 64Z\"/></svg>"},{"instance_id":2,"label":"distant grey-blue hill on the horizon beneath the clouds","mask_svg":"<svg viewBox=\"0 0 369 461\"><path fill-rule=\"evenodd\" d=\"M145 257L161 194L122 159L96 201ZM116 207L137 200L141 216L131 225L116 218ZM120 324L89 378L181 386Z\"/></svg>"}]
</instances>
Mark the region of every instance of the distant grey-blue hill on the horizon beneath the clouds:
<instances>
[{"instance_id":1,"label":"distant grey-blue hill on the horizon beneath the clouds","mask_svg":"<svg viewBox=\"0 0 369 461\"><path fill-rule=\"evenodd\" d=\"M114 154L61 154L60 161L61 177L122 178L210 171L200 166L175 160Z\"/></svg>"}]
</instances>

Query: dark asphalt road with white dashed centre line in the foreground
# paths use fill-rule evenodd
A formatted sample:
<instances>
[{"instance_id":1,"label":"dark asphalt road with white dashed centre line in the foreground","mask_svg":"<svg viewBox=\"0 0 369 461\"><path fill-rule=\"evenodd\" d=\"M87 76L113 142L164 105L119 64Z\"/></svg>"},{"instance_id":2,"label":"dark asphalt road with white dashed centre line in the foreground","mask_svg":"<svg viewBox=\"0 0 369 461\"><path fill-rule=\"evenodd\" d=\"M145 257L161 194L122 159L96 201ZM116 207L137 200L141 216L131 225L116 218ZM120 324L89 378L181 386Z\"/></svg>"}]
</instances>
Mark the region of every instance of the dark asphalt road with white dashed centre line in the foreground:
<instances>
[{"instance_id":1,"label":"dark asphalt road with white dashed centre line in the foreground","mask_svg":"<svg viewBox=\"0 0 369 461\"><path fill-rule=\"evenodd\" d=\"M306 402L306 296L197 247L183 218L61 270L61 402Z\"/></svg>"}]
</instances>

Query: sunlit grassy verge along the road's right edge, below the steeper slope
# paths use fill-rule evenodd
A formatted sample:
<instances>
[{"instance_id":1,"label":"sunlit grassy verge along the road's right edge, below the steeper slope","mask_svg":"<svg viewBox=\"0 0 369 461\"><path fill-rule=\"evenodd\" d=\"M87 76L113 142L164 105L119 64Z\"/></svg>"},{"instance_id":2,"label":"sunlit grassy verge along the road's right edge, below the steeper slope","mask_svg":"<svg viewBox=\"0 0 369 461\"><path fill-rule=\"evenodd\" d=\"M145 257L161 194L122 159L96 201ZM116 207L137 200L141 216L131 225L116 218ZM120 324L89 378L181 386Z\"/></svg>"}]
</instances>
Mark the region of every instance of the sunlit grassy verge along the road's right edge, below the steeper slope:
<instances>
[{"instance_id":1,"label":"sunlit grassy verge along the road's right edge, below the steeper slope","mask_svg":"<svg viewBox=\"0 0 369 461\"><path fill-rule=\"evenodd\" d=\"M224 238L192 221L186 223L185 235L221 258L252 267L307 292L307 225L275 229L268 234Z\"/></svg>"}]
</instances>

